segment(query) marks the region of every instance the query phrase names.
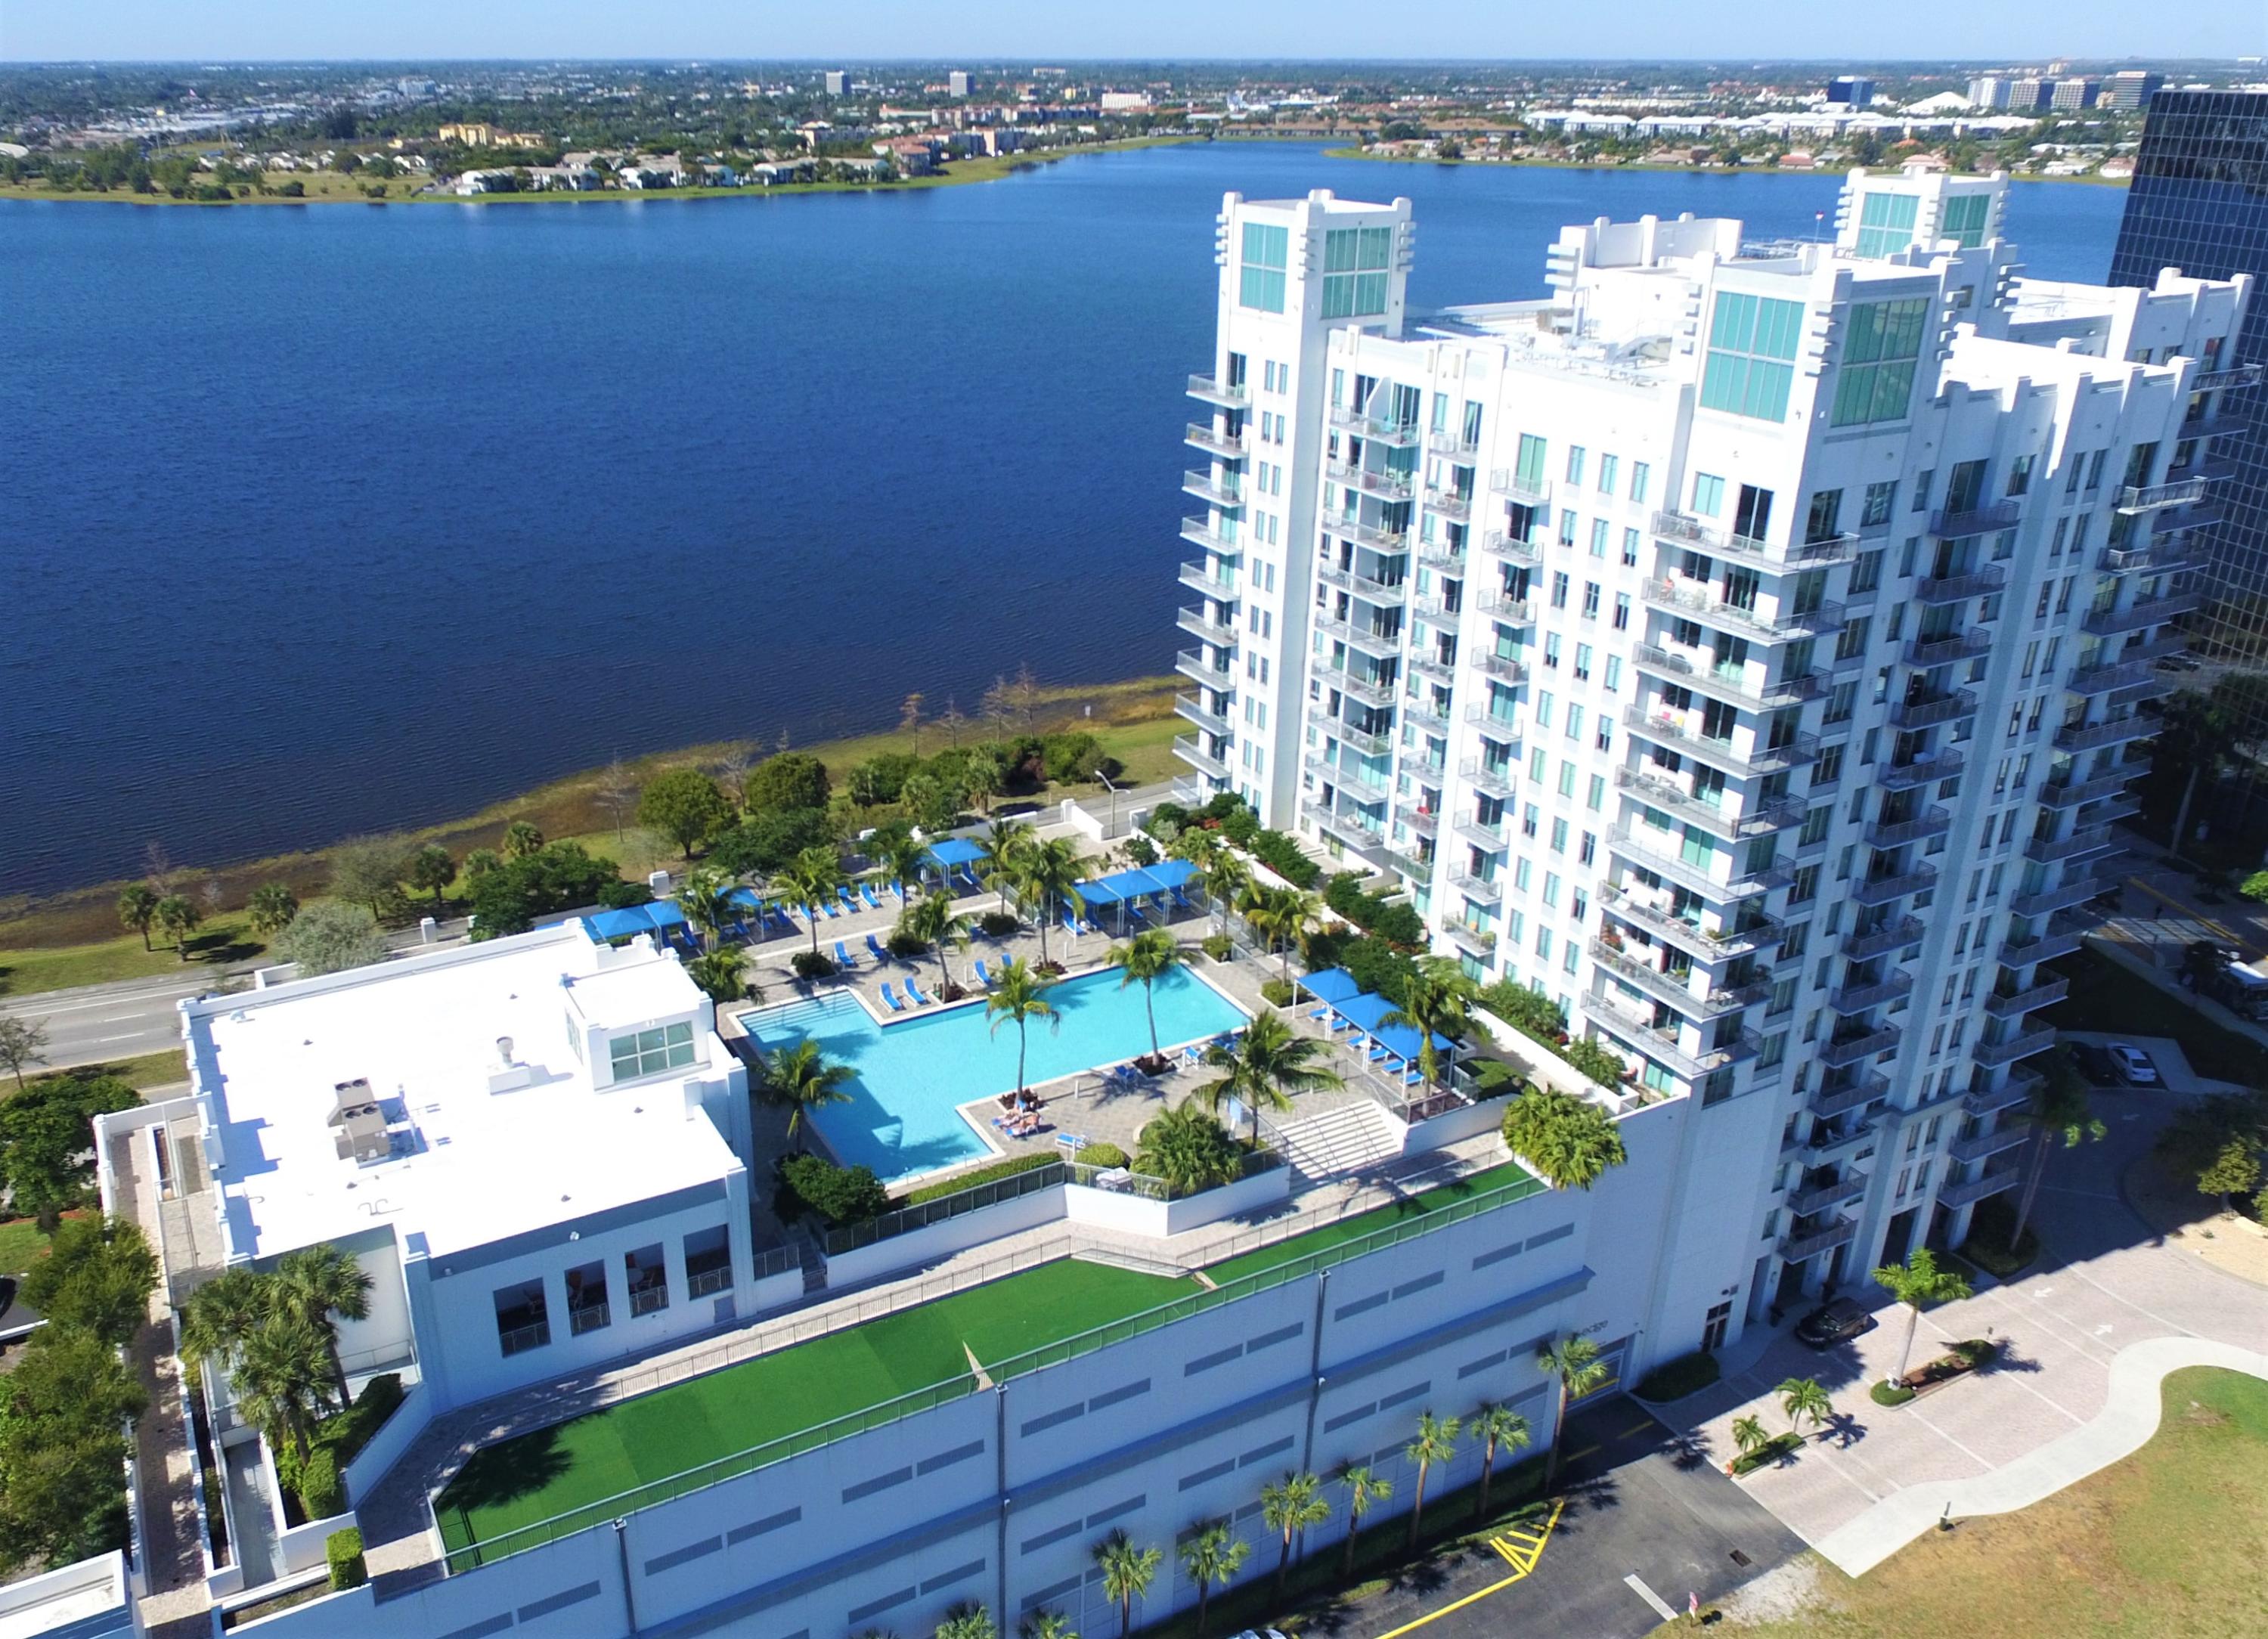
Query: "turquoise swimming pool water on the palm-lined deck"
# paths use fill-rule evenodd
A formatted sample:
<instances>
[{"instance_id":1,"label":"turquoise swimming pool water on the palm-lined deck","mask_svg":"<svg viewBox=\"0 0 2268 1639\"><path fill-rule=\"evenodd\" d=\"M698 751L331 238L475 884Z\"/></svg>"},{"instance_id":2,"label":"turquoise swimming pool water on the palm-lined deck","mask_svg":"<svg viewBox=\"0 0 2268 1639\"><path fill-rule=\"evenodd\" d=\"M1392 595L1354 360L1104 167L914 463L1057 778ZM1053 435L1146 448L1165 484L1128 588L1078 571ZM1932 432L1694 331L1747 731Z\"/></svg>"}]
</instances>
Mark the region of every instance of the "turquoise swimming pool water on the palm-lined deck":
<instances>
[{"instance_id":1,"label":"turquoise swimming pool water on the palm-lined deck","mask_svg":"<svg viewBox=\"0 0 2268 1639\"><path fill-rule=\"evenodd\" d=\"M1245 1022L1234 1002L1182 968L1154 991L1157 1038L1168 1050ZM1120 988L1116 973L1066 979L1048 1002L1057 1020L1055 1029L1046 1020L1030 1025L1027 1086L1150 1052L1143 986ZM993 1034L982 1004L875 1025L857 997L837 991L742 1013L739 1022L767 1052L810 1038L830 1061L850 1065L850 1102L810 1120L837 1161L873 1167L885 1183L989 1154L957 1106L1016 1086L1016 1027L1002 1020Z\"/></svg>"}]
</instances>

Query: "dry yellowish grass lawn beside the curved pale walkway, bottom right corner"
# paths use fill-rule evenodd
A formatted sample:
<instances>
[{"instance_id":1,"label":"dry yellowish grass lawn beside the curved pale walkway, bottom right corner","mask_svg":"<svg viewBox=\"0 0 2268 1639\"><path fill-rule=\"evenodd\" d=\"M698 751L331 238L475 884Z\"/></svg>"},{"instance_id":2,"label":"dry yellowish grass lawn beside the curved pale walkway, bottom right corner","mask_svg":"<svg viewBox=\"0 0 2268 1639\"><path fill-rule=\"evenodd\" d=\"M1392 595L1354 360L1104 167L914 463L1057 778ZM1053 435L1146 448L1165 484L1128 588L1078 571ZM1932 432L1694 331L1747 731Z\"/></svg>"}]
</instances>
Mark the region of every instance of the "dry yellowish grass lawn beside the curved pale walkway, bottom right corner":
<instances>
[{"instance_id":1,"label":"dry yellowish grass lawn beside the curved pale walkway, bottom right corner","mask_svg":"<svg viewBox=\"0 0 2268 1639\"><path fill-rule=\"evenodd\" d=\"M2019 1514L1930 1532L1864 1578L1821 1569L1801 1616L1758 1639L2225 1639L2268 1632L2268 1383L2166 1378L2166 1415L2125 1462ZM1685 1632L1681 1623L1662 1634Z\"/></svg>"}]
</instances>

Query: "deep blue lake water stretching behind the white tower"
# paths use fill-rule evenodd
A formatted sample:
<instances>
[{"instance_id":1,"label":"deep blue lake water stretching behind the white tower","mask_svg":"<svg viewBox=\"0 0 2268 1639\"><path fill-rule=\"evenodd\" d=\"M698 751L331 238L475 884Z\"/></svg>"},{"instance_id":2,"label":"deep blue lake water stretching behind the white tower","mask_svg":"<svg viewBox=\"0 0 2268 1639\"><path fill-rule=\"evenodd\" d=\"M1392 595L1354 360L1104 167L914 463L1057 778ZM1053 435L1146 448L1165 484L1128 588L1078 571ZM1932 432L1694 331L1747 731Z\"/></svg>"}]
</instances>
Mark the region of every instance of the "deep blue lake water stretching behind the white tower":
<instances>
[{"instance_id":1,"label":"deep blue lake water stretching behind the white tower","mask_svg":"<svg viewBox=\"0 0 2268 1639\"><path fill-rule=\"evenodd\" d=\"M1833 177L1089 156L919 195L0 204L0 893L1173 664L1222 190L1417 204L1415 306L1560 222ZM2100 279L2123 193L2012 229ZM1833 218L1830 218L1833 220Z\"/></svg>"}]
</instances>

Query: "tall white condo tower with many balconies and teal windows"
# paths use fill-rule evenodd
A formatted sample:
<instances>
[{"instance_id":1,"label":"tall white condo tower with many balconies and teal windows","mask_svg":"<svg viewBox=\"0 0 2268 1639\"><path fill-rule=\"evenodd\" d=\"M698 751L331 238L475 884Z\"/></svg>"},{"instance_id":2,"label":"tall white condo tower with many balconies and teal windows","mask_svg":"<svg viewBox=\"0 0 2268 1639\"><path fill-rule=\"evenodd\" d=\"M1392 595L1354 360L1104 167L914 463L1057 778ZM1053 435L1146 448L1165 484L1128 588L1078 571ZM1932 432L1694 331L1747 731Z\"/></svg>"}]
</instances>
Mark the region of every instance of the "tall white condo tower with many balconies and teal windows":
<instances>
[{"instance_id":1,"label":"tall white condo tower with many balconies and teal windows","mask_svg":"<svg viewBox=\"0 0 2268 1639\"><path fill-rule=\"evenodd\" d=\"M2248 281L2021 279L2005 202L1857 170L1835 243L1601 218L1547 299L1433 315L1408 202L1222 202L1182 796L1399 877L1692 1097L1749 1317L2016 1179L2037 963L2114 882L2195 605Z\"/></svg>"}]
</instances>

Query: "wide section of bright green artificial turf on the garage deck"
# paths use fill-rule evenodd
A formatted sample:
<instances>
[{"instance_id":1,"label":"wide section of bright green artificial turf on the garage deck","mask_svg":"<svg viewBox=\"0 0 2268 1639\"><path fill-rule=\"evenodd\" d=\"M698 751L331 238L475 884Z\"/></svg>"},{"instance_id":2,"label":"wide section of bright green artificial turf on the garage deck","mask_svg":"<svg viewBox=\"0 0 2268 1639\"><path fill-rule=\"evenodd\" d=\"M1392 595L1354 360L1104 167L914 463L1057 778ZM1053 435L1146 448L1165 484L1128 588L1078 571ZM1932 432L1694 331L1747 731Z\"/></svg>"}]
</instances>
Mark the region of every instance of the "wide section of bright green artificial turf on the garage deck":
<instances>
[{"instance_id":1,"label":"wide section of bright green artificial turf on the garage deck","mask_svg":"<svg viewBox=\"0 0 2268 1639\"><path fill-rule=\"evenodd\" d=\"M964 1344L991 1365L1200 1288L1061 1258L934 1303L814 1337L723 1372L538 1428L465 1464L435 1514L456 1551L494 1542L610 1496L687 1476L705 1462L830 1424L932 1385L975 1387ZM660 1501L644 1496L637 1505ZM590 1523L590 1521L574 1521Z\"/></svg>"}]
</instances>

